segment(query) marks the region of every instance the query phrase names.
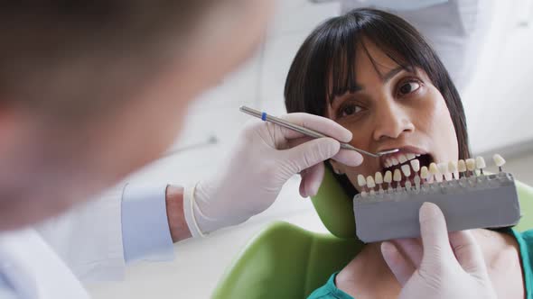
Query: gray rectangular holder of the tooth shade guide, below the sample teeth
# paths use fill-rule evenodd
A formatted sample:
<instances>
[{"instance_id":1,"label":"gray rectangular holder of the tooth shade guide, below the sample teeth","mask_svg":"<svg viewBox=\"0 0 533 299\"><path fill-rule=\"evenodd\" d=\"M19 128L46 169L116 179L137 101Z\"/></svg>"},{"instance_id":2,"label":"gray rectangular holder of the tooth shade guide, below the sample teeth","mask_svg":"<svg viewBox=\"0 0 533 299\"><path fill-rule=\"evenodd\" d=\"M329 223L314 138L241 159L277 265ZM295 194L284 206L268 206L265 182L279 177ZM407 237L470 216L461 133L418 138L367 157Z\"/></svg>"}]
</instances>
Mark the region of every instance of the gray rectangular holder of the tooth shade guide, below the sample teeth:
<instances>
[{"instance_id":1,"label":"gray rectangular holder of the tooth shade guide, below the sample teeth","mask_svg":"<svg viewBox=\"0 0 533 299\"><path fill-rule=\"evenodd\" d=\"M439 183L395 188L375 195L355 195L356 233L364 242L420 237L418 211L425 202L438 205L448 231L513 226L520 204L512 175L500 172Z\"/></svg>"}]
</instances>

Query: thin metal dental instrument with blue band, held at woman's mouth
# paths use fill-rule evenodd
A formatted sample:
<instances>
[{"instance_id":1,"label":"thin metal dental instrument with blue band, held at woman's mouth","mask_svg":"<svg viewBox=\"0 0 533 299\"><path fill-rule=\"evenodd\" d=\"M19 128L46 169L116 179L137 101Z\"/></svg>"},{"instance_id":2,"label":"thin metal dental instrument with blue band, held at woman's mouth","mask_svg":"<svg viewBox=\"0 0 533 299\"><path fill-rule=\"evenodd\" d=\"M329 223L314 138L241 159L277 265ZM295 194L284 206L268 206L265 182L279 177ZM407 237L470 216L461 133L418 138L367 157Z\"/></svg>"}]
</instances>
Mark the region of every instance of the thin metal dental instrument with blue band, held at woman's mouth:
<instances>
[{"instance_id":1,"label":"thin metal dental instrument with blue band, held at woman's mouth","mask_svg":"<svg viewBox=\"0 0 533 299\"><path fill-rule=\"evenodd\" d=\"M295 123L287 122L285 120L282 120L281 118L277 118L276 116L272 116L272 115L268 115L266 113L262 113L260 111L257 111L256 109L252 109L252 108L249 108L247 106L240 106L240 108L238 108L238 110L240 110L240 112L247 113L249 115L252 115L252 116L255 116L257 118L260 118L260 119L262 119L265 122L273 122L273 123L276 123L277 125L280 125L282 127L287 128L287 129L290 129L290 130L293 130L293 131L297 131L297 132L301 132L302 134L304 134L306 136L309 136L309 137L313 137L313 138L330 137L330 136L326 136L323 133L320 133L318 131L313 131L311 129L304 128L304 127L299 126L299 125L297 125ZM368 156L374 157L374 158L379 158L379 157L381 157L383 155L392 154L392 153L397 152L399 150L399 149L388 149L388 150L379 151L379 152L374 154L374 153L371 153L371 152L366 151L366 150L354 148L350 144L343 143L343 142L341 142L341 149L355 150L355 151L357 151L357 152L359 152L361 154L365 154L365 155L368 155Z\"/></svg>"}]
</instances>

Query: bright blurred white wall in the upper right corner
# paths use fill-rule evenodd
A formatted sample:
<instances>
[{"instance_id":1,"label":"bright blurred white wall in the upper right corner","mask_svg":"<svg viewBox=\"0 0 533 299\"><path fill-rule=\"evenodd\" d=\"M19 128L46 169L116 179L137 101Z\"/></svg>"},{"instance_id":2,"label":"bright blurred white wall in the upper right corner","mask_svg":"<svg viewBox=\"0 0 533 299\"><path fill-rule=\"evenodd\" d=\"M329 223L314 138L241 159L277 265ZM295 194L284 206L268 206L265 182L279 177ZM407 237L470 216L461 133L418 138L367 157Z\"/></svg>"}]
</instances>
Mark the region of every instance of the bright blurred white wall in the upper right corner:
<instances>
[{"instance_id":1,"label":"bright blurred white wall in the upper right corner","mask_svg":"<svg viewBox=\"0 0 533 299\"><path fill-rule=\"evenodd\" d=\"M494 1L478 69L463 93L474 152L512 152L513 146L533 140L531 3Z\"/></svg>"}]
</instances>

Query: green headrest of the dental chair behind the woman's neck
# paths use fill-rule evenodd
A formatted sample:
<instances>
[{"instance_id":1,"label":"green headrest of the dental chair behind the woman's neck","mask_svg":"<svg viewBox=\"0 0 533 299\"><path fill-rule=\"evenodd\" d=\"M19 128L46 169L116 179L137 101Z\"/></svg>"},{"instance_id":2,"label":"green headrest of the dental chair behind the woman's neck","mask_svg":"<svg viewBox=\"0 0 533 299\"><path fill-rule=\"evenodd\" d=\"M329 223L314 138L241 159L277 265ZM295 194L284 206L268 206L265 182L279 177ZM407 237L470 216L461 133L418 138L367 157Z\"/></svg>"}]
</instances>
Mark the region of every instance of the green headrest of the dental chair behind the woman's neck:
<instances>
[{"instance_id":1,"label":"green headrest of the dental chair behind the woman's neck","mask_svg":"<svg viewBox=\"0 0 533 299\"><path fill-rule=\"evenodd\" d=\"M533 188L515 180L522 218L515 229L533 228ZM325 169L322 186L311 197L314 209L325 227L339 238L356 238L353 201L346 195L329 168Z\"/></svg>"}]
</instances>

